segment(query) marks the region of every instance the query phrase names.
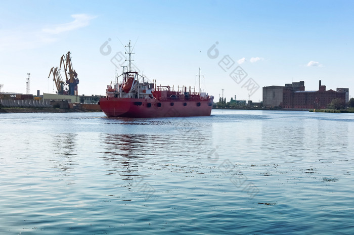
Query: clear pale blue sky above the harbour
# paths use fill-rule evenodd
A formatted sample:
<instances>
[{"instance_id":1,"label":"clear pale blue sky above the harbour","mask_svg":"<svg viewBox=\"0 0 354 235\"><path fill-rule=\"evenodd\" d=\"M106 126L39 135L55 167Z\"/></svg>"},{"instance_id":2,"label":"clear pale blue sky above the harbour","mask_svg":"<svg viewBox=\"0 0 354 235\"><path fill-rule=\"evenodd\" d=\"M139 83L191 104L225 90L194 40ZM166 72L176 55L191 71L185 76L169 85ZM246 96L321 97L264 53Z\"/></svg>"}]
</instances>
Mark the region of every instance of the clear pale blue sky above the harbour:
<instances>
[{"instance_id":1,"label":"clear pale blue sky above the harbour","mask_svg":"<svg viewBox=\"0 0 354 235\"><path fill-rule=\"evenodd\" d=\"M25 93L30 72L31 93L52 93L50 69L70 51L79 94L105 95L122 71L111 60L131 40L134 63L149 79L198 89L200 67L202 89L216 99L224 89L228 100L258 102L263 86L304 80L306 90L316 90L320 79L327 89L351 93L353 25L352 1L5 0L0 84L2 91ZM104 55L106 41L111 52L104 47Z\"/></svg>"}]
</instances>

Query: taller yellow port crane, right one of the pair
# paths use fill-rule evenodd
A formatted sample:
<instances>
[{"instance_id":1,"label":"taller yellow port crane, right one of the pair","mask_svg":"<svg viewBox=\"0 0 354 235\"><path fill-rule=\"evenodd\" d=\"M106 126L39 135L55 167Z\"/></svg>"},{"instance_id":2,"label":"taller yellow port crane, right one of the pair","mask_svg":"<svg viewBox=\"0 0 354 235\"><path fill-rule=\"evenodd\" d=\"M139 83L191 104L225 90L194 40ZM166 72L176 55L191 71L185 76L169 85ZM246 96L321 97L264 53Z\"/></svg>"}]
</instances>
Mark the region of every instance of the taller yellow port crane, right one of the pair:
<instances>
[{"instance_id":1,"label":"taller yellow port crane, right one of the pair","mask_svg":"<svg viewBox=\"0 0 354 235\"><path fill-rule=\"evenodd\" d=\"M77 84L79 83L79 79L77 78L77 73L75 69L73 69L72 67L70 52L66 54L66 57L65 55L63 55L60 58L59 70L61 69L62 65L64 67L66 84L69 85L68 95L77 96Z\"/></svg>"}]
</instances>

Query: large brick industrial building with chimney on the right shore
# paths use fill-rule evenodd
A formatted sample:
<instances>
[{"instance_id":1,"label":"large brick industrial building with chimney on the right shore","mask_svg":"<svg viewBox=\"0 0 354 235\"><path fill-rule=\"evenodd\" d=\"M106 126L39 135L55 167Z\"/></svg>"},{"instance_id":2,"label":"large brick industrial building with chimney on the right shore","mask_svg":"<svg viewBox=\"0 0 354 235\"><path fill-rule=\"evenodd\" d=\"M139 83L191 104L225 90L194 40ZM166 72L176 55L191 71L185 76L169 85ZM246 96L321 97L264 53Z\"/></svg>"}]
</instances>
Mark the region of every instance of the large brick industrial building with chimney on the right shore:
<instances>
[{"instance_id":1,"label":"large brick industrial building with chimney on the right shore","mask_svg":"<svg viewBox=\"0 0 354 235\"><path fill-rule=\"evenodd\" d=\"M349 89L326 90L319 81L319 90L305 90L304 81L285 84L285 86L263 87L263 106L284 109L325 109L334 99L348 103Z\"/></svg>"}]
</instances>

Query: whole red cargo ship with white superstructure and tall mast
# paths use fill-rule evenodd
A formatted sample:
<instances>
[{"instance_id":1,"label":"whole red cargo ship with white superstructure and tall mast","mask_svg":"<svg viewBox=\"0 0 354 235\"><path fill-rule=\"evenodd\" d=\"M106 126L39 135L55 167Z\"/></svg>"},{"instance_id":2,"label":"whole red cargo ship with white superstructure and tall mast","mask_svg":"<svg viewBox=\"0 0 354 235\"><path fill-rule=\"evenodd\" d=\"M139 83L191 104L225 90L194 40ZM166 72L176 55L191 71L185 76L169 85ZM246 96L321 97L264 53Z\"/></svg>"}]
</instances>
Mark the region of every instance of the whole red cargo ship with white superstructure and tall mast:
<instances>
[{"instance_id":1,"label":"whole red cargo ship with white superstructure and tall mast","mask_svg":"<svg viewBox=\"0 0 354 235\"><path fill-rule=\"evenodd\" d=\"M195 88L192 91L191 87L187 89L183 86L181 90L178 87L178 90L174 91L170 86L156 86L156 81L155 84L146 82L144 76L130 71L130 42L127 47L128 71L123 70L116 78L114 87L107 86L106 98L101 98L99 102L108 117L210 116L213 96L208 96L206 92L195 92ZM118 82L119 77L122 78L121 82Z\"/></svg>"}]
</instances>

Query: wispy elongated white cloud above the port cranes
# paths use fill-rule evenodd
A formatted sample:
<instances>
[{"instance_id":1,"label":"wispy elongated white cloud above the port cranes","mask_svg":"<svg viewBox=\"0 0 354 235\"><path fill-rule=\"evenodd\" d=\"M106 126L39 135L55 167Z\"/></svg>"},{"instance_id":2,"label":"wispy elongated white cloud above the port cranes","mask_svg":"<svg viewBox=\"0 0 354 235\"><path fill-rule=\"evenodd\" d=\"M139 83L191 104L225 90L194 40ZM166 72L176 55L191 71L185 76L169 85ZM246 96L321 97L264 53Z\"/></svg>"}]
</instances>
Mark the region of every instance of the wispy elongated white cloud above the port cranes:
<instances>
[{"instance_id":1,"label":"wispy elongated white cloud above the port cranes","mask_svg":"<svg viewBox=\"0 0 354 235\"><path fill-rule=\"evenodd\" d=\"M71 31L71 30L85 27L85 26L89 25L90 20L96 18L96 16L90 16L87 14L74 14L74 15L71 15L71 17L74 18L74 21L72 21L70 23L60 24L60 25L54 26L53 28L45 28L45 29L42 29L42 31L47 32L47 33L51 33L51 34L59 34L62 32Z\"/></svg>"}]
</instances>

